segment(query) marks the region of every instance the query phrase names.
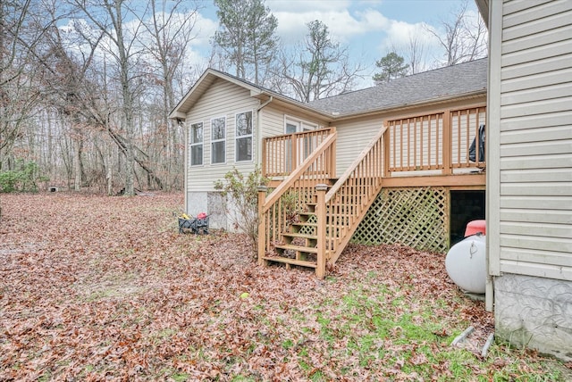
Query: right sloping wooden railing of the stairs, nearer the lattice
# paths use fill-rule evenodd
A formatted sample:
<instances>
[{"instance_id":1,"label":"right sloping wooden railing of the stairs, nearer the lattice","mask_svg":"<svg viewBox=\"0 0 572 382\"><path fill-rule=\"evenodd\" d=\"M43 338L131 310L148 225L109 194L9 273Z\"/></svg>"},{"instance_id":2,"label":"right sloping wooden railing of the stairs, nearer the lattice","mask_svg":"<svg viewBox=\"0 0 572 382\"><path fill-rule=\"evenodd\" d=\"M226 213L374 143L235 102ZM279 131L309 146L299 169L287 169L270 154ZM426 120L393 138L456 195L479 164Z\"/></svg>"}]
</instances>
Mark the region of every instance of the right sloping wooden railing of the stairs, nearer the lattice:
<instances>
[{"instance_id":1,"label":"right sloping wooden railing of the stairs, nearer the lattice","mask_svg":"<svg viewBox=\"0 0 572 382\"><path fill-rule=\"evenodd\" d=\"M322 246L325 250L322 256L325 260L324 264L318 264L318 268L325 267L325 262L333 264L338 260L382 189L386 130L387 126L384 126L325 194L324 206L317 206L318 209L324 209L327 215L325 219L320 219L324 214L317 215L318 231L325 232L324 244L318 244L318 247ZM316 273L323 274L324 270L316 270Z\"/></svg>"}]
</instances>

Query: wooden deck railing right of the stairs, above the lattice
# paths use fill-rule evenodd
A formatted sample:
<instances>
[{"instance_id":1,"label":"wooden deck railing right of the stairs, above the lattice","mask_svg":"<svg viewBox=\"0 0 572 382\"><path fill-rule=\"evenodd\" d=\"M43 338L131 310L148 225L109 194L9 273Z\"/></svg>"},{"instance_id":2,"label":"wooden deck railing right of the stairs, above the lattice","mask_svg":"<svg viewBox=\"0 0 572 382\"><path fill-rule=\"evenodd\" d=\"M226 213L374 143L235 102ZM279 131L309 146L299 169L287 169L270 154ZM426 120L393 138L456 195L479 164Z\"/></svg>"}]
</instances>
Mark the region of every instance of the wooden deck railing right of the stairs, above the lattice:
<instances>
[{"instance_id":1,"label":"wooden deck railing right of the stairs, above the lattice","mask_svg":"<svg viewBox=\"0 0 572 382\"><path fill-rule=\"evenodd\" d=\"M484 167L484 158L469 160L469 147L484 123L485 107L445 110L388 120L385 145L387 171L441 170Z\"/></svg>"}]
</instances>

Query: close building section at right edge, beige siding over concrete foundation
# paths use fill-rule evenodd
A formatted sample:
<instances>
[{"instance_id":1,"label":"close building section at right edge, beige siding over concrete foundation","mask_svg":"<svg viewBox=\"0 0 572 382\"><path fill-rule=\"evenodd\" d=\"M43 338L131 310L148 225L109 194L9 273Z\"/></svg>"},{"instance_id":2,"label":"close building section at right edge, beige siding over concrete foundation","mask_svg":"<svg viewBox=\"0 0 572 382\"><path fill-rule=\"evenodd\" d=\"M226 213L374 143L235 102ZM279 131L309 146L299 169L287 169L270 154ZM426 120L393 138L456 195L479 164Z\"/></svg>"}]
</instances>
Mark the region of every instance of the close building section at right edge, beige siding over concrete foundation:
<instances>
[{"instance_id":1,"label":"close building section at right edge, beige siding over concrete foundation","mask_svg":"<svg viewBox=\"0 0 572 382\"><path fill-rule=\"evenodd\" d=\"M489 29L487 309L572 360L572 2L475 0Z\"/></svg>"}]
</instances>

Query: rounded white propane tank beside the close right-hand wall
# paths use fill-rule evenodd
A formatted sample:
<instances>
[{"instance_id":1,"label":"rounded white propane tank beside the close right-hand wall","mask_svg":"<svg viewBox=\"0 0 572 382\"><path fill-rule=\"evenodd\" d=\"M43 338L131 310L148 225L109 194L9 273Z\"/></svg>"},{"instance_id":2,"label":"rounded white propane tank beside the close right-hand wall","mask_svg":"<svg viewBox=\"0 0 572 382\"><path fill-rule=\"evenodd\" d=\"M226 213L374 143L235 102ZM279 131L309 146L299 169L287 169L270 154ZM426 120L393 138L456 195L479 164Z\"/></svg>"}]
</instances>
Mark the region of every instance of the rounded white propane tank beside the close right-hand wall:
<instances>
[{"instance_id":1,"label":"rounded white propane tank beside the close right-hand wall","mask_svg":"<svg viewBox=\"0 0 572 382\"><path fill-rule=\"evenodd\" d=\"M469 293L484 294L486 284L486 245L484 235L465 237L450 247L445 258L449 277Z\"/></svg>"}]
</instances>

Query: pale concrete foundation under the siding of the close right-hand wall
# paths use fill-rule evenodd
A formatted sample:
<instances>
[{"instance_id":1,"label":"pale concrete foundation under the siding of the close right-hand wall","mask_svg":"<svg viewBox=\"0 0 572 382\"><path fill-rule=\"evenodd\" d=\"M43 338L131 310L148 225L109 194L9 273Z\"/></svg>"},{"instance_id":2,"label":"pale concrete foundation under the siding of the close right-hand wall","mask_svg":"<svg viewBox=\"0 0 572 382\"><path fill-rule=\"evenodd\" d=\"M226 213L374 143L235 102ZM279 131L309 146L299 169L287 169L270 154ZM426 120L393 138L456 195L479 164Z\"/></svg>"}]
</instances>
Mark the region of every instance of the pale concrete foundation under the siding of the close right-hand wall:
<instances>
[{"instance_id":1,"label":"pale concrete foundation under the siding of the close right-hand wall","mask_svg":"<svg viewBox=\"0 0 572 382\"><path fill-rule=\"evenodd\" d=\"M572 361L572 282L504 274L494 306L497 338Z\"/></svg>"}]
</instances>

